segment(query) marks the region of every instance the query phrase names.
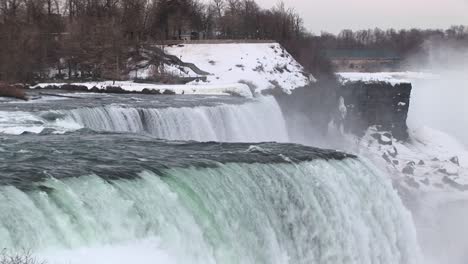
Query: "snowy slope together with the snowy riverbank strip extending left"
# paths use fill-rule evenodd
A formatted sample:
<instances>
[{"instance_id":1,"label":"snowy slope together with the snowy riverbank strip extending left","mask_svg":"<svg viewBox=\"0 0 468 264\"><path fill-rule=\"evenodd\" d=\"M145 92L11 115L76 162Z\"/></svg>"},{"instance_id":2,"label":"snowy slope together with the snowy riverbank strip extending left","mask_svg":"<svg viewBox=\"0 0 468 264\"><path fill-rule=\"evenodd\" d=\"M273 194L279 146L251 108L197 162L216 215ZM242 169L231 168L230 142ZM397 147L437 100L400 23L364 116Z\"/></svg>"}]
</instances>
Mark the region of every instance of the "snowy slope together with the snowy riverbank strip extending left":
<instances>
[{"instance_id":1,"label":"snowy slope together with the snowy riverbank strip extending left","mask_svg":"<svg viewBox=\"0 0 468 264\"><path fill-rule=\"evenodd\" d=\"M159 85L120 82L73 83L102 90L117 86L125 91L142 92L144 89L171 91L175 94L230 94L251 98L254 93L267 89L281 89L291 93L315 78L277 43L216 43L166 46L164 52L177 56L184 63L192 63L208 75L199 75L189 67L178 65L148 65L148 60L137 62L138 70L131 71L130 80L151 77L154 72L174 77L202 77L186 85ZM151 53L151 51L147 51ZM148 56L150 54L147 54ZM42 83L33 88L64 83Z\"/></svg>"}]
</instances>

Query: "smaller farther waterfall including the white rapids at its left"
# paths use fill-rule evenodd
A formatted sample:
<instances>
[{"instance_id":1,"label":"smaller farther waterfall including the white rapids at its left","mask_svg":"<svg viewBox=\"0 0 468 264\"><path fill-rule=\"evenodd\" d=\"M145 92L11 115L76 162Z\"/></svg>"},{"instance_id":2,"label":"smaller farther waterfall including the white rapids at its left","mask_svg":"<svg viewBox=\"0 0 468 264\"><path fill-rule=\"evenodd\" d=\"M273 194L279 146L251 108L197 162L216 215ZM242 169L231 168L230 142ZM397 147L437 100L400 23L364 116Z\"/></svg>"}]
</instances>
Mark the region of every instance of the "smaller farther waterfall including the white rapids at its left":
<instances>
[{"instance_id":1,"label":"smaller farther waterfall including the white rapids at its left","mask_svg":"<svg viewBox=\"0 0 468 264\"><path fill-rule=\"evenodd\" d=\"M0 133L40 133L89 128L95 131L131 132L169 140L219 142L288 142L289 136L281 109L273 97L244 104L211 104L198 107L163 107L160 102L113 103L98 101L57 110L38 105L40 111L0 112ZM180 103L179 103L180 104ZM187 104L187 103L185 103ZM33 108L34 109L34 108Z\"/></svg>"}]
</instances>

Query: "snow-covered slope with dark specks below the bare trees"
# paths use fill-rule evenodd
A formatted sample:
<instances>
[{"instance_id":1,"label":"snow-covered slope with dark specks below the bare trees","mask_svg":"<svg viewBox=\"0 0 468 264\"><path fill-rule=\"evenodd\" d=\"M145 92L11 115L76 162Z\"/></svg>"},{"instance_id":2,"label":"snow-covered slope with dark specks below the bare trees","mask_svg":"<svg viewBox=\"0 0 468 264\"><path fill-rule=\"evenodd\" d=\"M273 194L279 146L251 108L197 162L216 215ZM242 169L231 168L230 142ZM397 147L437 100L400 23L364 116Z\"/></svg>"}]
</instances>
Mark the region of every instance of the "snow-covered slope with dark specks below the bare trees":
<instances>
[{"instance_id":1,"label":"snow-covered slope with dark specks below the bare trees","mask_svg":"<svg viewBox=\"0 0 468 264\"><path fill-rule=\"evenodd\" d=\"M290 93L315 82L278 43L184 44L165 47L165 51L209 72L210 84L246 82L257 91L279 86Z\"/></svg>"}]
</instances>

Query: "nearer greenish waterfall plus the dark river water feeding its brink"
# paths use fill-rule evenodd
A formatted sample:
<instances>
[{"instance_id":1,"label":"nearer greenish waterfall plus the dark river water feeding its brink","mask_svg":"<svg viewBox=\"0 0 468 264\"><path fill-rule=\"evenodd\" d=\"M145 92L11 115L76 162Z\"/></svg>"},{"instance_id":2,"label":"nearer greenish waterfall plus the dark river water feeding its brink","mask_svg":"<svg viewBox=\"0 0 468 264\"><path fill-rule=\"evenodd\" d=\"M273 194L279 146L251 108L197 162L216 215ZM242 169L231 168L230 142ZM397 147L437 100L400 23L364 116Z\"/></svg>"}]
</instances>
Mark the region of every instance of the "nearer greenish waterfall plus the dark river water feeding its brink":
<instances>
[{"instance_id":1,"label":"nearer greenish waterfall plus the dark river water feeding its brink","mask_svg":"<svg viewBox=\"0 0 468 264\"><path fill-rule=\"evenodd\" d=\"M0 187L2 248L54 252L53 260L155 238L174 263L417 263L409 213L388 179L355 157L288 144L93 137L2 138L12 146L2 164L30 183ZM34 147L21 151L26 145ZM139 172L122 177L130 159ZM28 180L40 173L48 177Z\"/></svg>"}]
</instances>

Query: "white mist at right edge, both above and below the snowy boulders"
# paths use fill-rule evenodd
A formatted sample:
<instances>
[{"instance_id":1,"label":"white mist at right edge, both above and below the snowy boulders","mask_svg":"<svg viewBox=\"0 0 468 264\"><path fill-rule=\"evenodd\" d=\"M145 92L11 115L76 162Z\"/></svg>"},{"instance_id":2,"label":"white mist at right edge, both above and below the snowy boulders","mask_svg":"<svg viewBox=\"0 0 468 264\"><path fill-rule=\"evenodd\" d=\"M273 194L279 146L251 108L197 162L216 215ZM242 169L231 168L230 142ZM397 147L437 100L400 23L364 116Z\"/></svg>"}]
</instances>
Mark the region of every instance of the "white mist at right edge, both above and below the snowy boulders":
<instances>
[{"instance_id":1,"label":"white mist at right edge, both above and below the snowy boulders","mask_svg":"<svg viewBox=\"0 0 468 264\"><path fill-rule=\"evenodd\" d=\"M468 48L427 41L424 54L414 56L410 65L412 71L434 74L413 81L410 130L425 126L442 131L468 150ZM468 197L447 195L421 198L424 209L413 212L419 240L428 263L466 264Z\"/></svg>"}]
</instances>

